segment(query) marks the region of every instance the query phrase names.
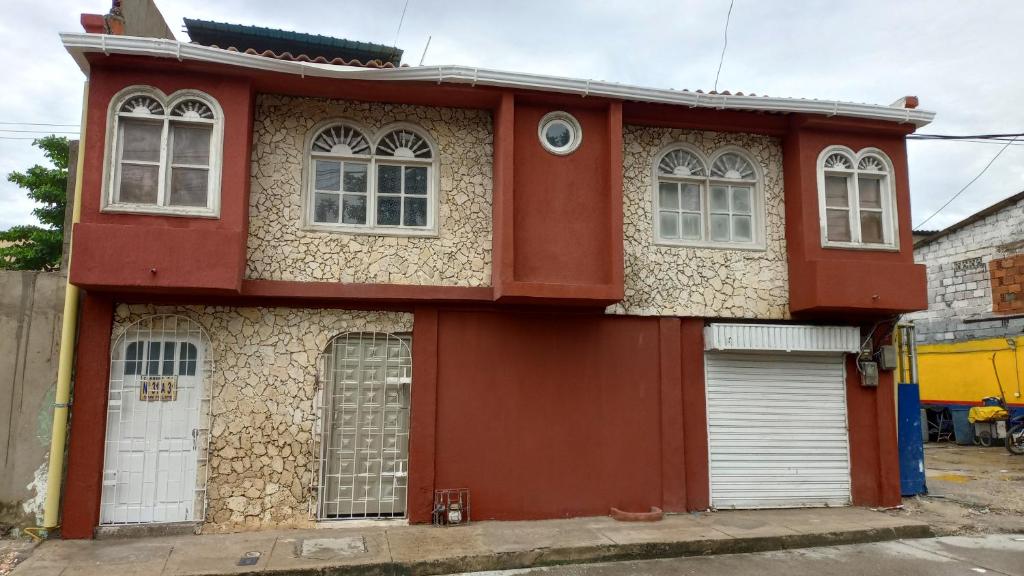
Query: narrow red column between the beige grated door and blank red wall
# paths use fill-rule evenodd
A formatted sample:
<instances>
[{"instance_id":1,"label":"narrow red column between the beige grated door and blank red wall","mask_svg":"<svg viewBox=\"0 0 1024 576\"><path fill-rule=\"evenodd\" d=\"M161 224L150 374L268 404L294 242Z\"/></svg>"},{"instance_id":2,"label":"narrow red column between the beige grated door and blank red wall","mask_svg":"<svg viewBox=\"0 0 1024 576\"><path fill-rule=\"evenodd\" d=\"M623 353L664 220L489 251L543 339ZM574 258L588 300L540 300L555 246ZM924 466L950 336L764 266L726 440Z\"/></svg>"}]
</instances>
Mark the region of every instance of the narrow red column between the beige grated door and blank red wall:
<instances>
[{"instance_id":1,"label":"narrow red column between the beige grated door and blank red wall","mask_svg":"<svg viewBox=\"0 0 1024 576\"><path fill-rule=\"evenodd\" d=\"M437 425L437 308L417 307L413 322L413 398L409 428L409 521L429 523L434 502Z\"/></svg>"}]
</instances>

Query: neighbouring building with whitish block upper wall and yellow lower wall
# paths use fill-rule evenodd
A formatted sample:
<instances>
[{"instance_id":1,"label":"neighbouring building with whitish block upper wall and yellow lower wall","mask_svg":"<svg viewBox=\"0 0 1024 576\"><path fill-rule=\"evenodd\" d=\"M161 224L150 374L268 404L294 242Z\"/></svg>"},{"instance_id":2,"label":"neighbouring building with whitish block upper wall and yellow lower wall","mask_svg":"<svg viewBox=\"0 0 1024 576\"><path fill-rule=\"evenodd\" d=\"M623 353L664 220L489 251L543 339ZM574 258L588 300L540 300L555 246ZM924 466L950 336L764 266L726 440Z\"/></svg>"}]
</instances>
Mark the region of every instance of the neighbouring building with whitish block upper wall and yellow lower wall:
<instances>
[{"instance_id":1,"label":"neighbouring building with whitish block upper wall and yellow lower wall","mask_svg":"<svg viewBox=\"0 0 1024 576\"><path fill-rule=\"evenodd\" d=\"M922 403L975 406L1001 394L1024 408L1024 192L932 234L914 254L928 266L929 306L904 318L918 334Z\"/></svg>"}]
</instances>

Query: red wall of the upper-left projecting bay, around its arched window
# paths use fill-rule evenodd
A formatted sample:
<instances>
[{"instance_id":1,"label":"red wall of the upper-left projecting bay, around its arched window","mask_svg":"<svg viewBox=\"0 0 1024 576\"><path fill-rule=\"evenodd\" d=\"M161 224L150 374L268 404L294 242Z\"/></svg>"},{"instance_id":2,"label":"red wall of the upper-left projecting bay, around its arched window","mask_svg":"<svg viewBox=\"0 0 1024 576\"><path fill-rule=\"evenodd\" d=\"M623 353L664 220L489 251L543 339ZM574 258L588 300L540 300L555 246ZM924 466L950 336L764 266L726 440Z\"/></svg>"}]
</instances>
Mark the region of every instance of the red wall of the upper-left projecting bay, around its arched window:
<instances>
[{"instance_id":1,"label":"red wall of the upper-left projecting bay, around its arched window","mask_svg":"<svg viewBox=\"0 0 1024 576\"><path fill-rule=\"evenodd\" d=\"M223 109L220 217L101 212L106 120L122 89L153 86L166 94L206 92ZM250 82L244 78L94 67L89 81L82 220L75 227L71 280L93 289L237 292L245 271L249 230L252 133ZM156 272L154 272L156 271Z\"/></svg>"}]
</instances>

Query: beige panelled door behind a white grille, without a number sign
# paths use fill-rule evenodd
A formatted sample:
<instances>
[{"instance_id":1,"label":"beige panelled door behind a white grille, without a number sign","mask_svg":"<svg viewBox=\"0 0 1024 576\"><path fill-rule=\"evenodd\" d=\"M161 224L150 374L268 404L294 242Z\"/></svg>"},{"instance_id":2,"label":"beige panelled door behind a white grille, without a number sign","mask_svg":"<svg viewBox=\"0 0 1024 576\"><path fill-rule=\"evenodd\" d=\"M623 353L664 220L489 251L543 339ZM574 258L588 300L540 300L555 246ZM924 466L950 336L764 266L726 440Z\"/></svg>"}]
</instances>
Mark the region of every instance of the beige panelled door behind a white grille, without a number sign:
<instances>
[{"instance_id":1,"label":"beige panelled door behind a white grille, without a number sign","mask_svg":"<svg viewBox=\"0 0 1024 576\"><path fill-rule=\"evenodd\" d=\"M410 339L347 333L325 358L318 518L406 515Z\"/></svg>"}]
</instances>

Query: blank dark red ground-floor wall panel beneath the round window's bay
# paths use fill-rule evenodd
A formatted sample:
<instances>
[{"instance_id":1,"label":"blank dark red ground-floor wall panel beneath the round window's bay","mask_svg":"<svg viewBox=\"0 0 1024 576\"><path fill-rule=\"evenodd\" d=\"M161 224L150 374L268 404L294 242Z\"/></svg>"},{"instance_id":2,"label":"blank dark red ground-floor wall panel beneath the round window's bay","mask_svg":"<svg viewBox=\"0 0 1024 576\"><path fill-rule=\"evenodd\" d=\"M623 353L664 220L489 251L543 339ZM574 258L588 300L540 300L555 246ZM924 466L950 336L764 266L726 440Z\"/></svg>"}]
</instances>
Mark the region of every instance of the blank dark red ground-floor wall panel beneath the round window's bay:
<instances>
[{"instance_id":1,"label":"blank dark red ground-floor wall panel beneath the round window's bay","mask_svg":"<svg viewBox=\"0 0 1024 576\"><path fill-rule=\"evenodd\" d=\"M435 484L474 520L662 504L655 319L445 312Z\"/></svg>"}]
</instances>

